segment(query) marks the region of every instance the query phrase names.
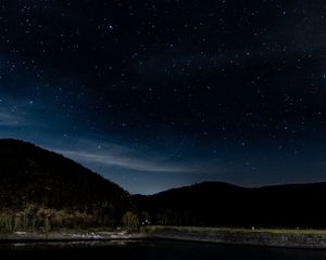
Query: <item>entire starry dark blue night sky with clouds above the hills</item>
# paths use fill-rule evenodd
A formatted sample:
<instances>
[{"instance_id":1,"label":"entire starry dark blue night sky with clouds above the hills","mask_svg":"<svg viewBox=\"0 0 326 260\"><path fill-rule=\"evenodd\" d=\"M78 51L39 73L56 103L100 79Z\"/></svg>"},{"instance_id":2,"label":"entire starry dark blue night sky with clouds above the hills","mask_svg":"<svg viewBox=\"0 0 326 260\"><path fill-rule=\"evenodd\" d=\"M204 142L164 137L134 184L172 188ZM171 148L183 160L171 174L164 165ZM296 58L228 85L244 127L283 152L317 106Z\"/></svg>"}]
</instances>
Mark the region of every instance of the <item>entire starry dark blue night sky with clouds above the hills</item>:
<instances>
[{"instance_id":1,"label":"entire starry dark blue night sky with clouds above the hills","mask_svg":"<svg viewBox=\"0 0 326 260\"><path fill-rule=\"evenodd\" d=\"M1 0L0 138L130 193L326 181L326 2Z\"/></svg>"}]
</instances>

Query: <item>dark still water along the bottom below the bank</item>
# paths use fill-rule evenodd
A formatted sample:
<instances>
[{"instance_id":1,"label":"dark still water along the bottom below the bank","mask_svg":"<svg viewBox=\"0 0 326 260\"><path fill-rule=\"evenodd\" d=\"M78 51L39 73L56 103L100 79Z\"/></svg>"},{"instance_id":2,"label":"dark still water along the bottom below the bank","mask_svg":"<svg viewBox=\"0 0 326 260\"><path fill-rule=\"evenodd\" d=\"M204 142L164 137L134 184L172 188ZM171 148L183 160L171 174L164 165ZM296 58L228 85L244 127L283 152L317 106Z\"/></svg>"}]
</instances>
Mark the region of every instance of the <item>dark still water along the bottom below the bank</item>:
<instances>
[{"instance_id":1,"label":"dark still water along the bottom below the bank","mask_svg":"<svg viewBox=\"0 0 326 260\"><path fill-rule=\"evenodd\" d=\"M324 250L223 246L165 240L112 240L75 243L0 244L1 259L315 259L326 258Z\"/></svg>"}]
</instances>

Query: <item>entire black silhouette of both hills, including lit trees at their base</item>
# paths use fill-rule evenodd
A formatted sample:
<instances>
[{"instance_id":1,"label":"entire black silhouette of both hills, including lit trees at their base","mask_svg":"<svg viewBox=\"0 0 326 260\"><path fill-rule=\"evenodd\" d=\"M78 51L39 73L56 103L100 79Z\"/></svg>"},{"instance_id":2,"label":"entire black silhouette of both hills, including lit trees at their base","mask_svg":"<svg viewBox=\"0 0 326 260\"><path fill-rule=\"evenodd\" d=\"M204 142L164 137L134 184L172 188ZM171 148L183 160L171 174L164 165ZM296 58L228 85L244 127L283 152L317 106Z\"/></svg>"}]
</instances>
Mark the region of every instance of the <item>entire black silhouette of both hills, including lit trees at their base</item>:
<instances>
[{"instance_id":1,"label":"entire black silhouette of both hills, including lit trees at their base","mask_svg":"<svg viewBox=\"0 0 326 260\"><path fill-rule=\"evenodd\" d=\"M123 217L162 225L326 227L326 183L203 182L130 196L64 156L17 140L0 140L0 231L7 232L115 227Z\"/></svg>"}]
</instances>

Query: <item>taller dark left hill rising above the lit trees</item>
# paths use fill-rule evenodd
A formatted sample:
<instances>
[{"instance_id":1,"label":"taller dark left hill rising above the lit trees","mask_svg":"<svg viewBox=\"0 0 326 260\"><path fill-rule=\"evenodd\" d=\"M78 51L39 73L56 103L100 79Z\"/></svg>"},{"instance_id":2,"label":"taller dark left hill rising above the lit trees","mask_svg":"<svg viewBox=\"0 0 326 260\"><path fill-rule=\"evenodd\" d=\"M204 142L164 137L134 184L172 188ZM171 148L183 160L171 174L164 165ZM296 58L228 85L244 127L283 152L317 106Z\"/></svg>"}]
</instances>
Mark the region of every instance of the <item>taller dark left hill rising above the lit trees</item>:
<instances>
[{"instance_id":1,"label":"taller dark left hill rising above the lit trees","mask_svg":"<svg viewBox=\"0 0 326 260\"><path fill-rule=\"evenodd\" d=\"M60 211L60 218L73 222L78 212L82 221L113 224L130 207L128 193L118 185L23 141L0 140L0 208L8 216L28 208L35 216L53 219Z\"/></svg>"}]
</instances>

